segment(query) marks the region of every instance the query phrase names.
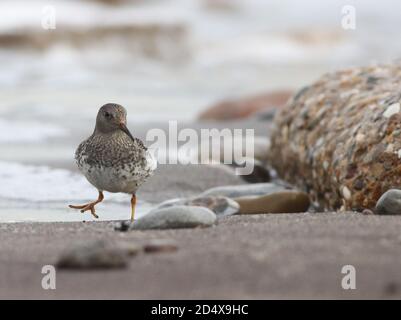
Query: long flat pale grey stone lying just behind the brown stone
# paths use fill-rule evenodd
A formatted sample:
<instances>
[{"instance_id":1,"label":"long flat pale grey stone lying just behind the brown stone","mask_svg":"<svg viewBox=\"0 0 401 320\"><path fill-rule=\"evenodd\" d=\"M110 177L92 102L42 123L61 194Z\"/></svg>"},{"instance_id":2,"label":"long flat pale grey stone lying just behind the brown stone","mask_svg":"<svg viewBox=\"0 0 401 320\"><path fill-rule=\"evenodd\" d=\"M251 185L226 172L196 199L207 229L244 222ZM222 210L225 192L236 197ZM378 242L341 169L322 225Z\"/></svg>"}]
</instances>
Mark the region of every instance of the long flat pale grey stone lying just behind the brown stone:
<instances>
[{"instance_id":1,"label":"long flat pale grey stone lying just behind the brown stone","mask_svg":"<svg viewBox=\"0 0 401 320\"><path fill-rule=\"evenodd\" d=\"M200 194L200 197L223 196L228 198L239 198L246 196L262 196L278 191L284 191L288 188L275 183L253 183L232 186L221 186L211 188Z\"/></svg>"}]
</instances>

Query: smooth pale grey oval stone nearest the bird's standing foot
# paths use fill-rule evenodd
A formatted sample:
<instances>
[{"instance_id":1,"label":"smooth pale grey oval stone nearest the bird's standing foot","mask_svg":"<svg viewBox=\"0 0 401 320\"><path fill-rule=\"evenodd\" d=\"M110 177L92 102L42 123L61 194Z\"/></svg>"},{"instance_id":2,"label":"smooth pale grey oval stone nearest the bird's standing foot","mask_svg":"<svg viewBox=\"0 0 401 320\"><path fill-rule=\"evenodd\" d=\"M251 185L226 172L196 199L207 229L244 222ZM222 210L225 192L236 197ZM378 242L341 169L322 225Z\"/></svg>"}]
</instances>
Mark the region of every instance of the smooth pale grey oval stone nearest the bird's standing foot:
<instances>
[{"instance_id":1,"label":"smooth pale grey oval stone nearest the bird's standing foot","mask_svg":"<svg viewBox=\"0 0 401 320\"><path fill-rule=\"evenodd\" d=\"M148 230L210 227L215 222L216 215L207 208L173 206L152 210L147 215L135 221L131 229Z\"/></svg>"}]
</instances>

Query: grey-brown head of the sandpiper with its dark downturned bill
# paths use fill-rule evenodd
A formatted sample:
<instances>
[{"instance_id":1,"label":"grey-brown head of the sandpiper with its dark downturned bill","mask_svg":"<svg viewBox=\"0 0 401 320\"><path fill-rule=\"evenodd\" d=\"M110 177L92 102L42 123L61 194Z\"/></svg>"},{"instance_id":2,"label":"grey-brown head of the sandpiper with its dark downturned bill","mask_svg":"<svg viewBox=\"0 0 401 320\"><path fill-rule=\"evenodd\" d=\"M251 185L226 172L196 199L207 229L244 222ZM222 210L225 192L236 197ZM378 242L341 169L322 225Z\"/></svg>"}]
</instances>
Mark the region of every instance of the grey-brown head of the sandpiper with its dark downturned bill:
<instances>
[{"instance_id":1,"label":"grey-brown head of the sandpiper with its dark downturned bill","mask_svg":"<svg viewBox=\"0 0 401 320\"><path fill-rule=\"evenodd\" d=\"M99 109L96 118L95 131L100 133L113 133L117 130L125 132L134 140L127 128L127 111L116 103L107 103Z\"/></svg>"}]
</instances>

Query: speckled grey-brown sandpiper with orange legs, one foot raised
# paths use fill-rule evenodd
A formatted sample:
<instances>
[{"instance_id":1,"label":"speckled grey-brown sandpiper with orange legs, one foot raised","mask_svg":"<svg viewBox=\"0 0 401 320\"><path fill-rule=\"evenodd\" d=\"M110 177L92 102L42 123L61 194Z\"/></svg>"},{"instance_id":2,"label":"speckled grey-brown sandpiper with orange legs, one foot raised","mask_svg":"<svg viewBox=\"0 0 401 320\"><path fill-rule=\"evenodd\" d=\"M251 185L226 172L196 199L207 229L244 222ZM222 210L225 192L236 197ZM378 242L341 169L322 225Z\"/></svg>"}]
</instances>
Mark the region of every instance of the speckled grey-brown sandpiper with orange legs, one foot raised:
<instances>
[{"instance_id":1,"label":"speckled grey-brown sandpiper with orange legs, one foot raised","mask_svg":"<svg viewBox=\"0 0 401 320\"><path fill-rule=\"evenodd\" d=\"M136 191L152 175L157 162L143 142L127 128L127 111L119 104L108 103L97 114L93 134L75 152L79 170L99 191L96 201L72 206L81 212L95 213L95 205L104 199L103 192L132 195L131 221L134 221Z\"/></svg>"}]
</instances>

